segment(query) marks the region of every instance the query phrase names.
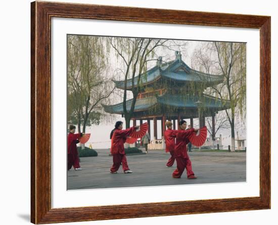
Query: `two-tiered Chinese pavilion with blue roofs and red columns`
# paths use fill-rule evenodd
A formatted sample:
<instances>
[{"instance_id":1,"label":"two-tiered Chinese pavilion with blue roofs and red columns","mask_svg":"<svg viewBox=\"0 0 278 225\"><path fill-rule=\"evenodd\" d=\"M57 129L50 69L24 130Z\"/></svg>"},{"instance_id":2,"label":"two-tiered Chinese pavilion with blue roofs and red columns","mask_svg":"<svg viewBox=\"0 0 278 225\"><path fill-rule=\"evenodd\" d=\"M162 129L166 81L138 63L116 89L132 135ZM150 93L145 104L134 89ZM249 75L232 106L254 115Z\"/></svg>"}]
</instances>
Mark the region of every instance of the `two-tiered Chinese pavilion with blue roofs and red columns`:
<instances>
[{"instance_id":1,"label":"two-tiered Chinese pavilion with blue roofs and red columns","mask_svg":"<svg viewBox=\"0 0 278 225\"><path fill-rule=\"evenodd\" d=\"M212 132L215 137L215 114L228 109L229 102L204 94L207 87L223 82L223 75L212 75L191 69L181 60L180 52L175 53L175 60L162 62L162 57L157 60L157 65L147 70L141 76L139 85L141 92L137 95L133 112L133 124L136 120L147 120L150 125L153 120L154 137L157 138L157 120L161 120L161 130L164 133L167 120L199 118L200 127L205 125L205 117L212 117ZM117 88L124 89L125 81L114 81ZM137 78L134 78L137 86ZM132 79L127 79L126 89L132 90ZM126 108L130 109L132 99L127 100ZM123 116L123 103L116 105L103 105L104 110L112 114ZM163 136L163 135L162 135Z\"/></svg>"}]
</instances>

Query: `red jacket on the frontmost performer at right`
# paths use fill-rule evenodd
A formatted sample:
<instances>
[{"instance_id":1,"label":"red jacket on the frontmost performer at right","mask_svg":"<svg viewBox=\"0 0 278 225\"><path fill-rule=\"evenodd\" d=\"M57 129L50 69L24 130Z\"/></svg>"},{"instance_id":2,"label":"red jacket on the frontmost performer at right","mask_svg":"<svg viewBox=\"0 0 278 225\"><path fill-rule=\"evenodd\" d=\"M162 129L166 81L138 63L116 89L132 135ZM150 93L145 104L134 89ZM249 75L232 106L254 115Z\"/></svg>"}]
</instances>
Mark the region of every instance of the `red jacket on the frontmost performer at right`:
<instances>
[{"instance_id":1,"label":"red jacket on the frontmost performer at right","mask_svg":"<svg viewBox=\"0 0 278 225\"><path fill-rule=\"evenodd\" d=\"M176 130L176 144L174 150L175 157L183 157L187 158L187 144L188 144L188 137L190 134L194 132L194 128L187 129L187 130Z\"/></svg>"}]
</instances>

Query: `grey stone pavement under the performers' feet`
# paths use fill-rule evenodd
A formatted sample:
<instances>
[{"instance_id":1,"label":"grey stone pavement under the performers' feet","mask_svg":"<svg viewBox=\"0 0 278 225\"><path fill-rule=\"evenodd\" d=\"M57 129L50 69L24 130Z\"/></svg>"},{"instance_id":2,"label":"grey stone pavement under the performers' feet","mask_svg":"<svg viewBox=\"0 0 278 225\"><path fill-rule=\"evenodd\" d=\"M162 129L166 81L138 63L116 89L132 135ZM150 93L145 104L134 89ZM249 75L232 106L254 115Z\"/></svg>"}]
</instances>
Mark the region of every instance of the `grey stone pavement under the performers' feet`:
<instances>
[{"instance_id":1,"label":"grey stone pavement under the performers' feet","mask_svg":"<svg viewBox=\"0 0 278 225\"><path fill-rule=\"evenodd\" d=\"M186 170L181 178L172 178L176 162L172 167L166 167L169 153L161 150L126 155L133 171L130 174L123 173L122 167L117 174L111 174L109 150L96 151L99 153L97 157L80 158L83 170L68 171L68 190L246 182L245 152L190 152L193 171L198 178L187 179Z\"/></svg>"}]
</instances>

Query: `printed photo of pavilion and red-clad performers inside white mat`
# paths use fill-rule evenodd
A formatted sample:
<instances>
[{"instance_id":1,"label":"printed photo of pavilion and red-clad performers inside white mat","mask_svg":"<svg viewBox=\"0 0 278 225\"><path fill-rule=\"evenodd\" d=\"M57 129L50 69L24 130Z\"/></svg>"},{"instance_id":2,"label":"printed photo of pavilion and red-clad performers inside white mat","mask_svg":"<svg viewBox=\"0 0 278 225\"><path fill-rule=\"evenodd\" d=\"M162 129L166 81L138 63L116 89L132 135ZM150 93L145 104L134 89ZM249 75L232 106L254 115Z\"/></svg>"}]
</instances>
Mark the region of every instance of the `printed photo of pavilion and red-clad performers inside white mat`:
<instances>
[{"instance_id":1,"label":"printed photo of pavilion and red-clad performers inside white mat","mask_svg":"<svg viewBox=\"0 0 278 225\"><path fill-rule=\"evenodd\" d=\"M66 41L67 190L246 182L246 42Z\"/></svg>"}]
</instances>

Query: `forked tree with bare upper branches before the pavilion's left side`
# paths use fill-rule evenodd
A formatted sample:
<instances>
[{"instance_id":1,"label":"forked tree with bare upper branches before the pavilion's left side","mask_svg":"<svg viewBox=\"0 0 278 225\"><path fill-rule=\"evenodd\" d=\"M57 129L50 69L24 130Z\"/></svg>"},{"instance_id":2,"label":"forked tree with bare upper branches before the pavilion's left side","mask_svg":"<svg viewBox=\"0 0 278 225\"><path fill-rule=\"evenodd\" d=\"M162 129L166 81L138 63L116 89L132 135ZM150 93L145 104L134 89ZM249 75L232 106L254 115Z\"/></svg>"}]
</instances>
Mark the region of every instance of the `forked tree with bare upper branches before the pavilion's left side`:
<instances>
[{"instance_id":1,"label":"forked tree with bare upper branches before the pavilion's left side","mask_svg":"<svg viewBox=\"0 0 278 225\"><path fill-rule=\"evenodd\" d=\"M123 114L126 127L130 127L130 119L132 118L138 93L140 93L142 85L141 81L146 78L147 63L154 59L155 51L159 47L163 47L166 39L154 38L121 38L110 37L110 44L115 50L116 56L123 62L121 70L124 76L123 90ZM133 100L130 109L127 108L127 80L131 79Z\"/></svg>"}]
</instances>

